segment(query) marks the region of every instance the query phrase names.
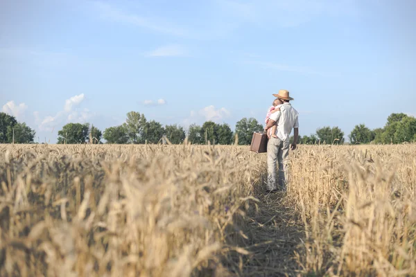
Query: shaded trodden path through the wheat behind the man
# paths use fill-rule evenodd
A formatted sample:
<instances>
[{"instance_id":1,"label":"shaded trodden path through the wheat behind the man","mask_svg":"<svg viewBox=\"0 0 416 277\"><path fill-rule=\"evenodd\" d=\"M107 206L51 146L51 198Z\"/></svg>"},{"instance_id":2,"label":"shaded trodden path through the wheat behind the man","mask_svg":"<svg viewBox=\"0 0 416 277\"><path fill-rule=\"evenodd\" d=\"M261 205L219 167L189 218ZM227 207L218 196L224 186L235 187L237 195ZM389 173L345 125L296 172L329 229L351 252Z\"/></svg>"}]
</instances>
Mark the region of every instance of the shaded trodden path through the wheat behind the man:
<instances>
[{"instance_id":1,"label":"shaded trodden path through the wheat behind the man","mask_svg":"<svg viewBox=\"0 0 416 277\"><path fill-rule=\"evenodd\" d=\"M258 189L260 200L257 212L252 212L244 222L243 232L248 239L243 242L250 251L240 260L241 276L297 276L295 251L304 236L302 224L283 193L264 195Z\"/></svg>"}]
</instances>

